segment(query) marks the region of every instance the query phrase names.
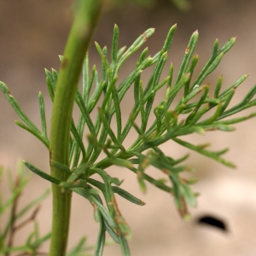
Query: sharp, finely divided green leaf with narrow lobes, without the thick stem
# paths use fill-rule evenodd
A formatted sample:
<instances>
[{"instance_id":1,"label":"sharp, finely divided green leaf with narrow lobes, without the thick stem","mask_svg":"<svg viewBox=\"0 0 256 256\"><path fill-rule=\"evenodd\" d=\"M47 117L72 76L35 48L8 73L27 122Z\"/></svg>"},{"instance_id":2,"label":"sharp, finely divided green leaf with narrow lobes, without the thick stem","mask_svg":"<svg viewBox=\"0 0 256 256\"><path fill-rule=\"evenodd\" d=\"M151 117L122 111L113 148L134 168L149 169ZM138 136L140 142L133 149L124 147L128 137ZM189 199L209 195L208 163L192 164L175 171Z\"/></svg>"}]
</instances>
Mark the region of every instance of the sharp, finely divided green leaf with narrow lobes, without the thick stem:
<instances>
[{"instance_id":1,"label":"sharp, finely divided green leaf with narrow lobes, without the thick stem","mask_svg":"<svg viewBox=\"0 0 256 256\"><path fill-rule=\"evenodd\" d=\"M75 102L80 111L79 120L75 123L72 119L70 127L69 165L53 163L61 172L67 173L67 180L52 177L24 161L32 172L51 183L58 184L63 191L72 190L90 201L95 209L95 218L100 224L95 255L102 255L106 231L113 241L119 243L122 253L130 255L127 238L131 236L131 231L119 211L115 195L118 194L137 205L144 204L128 191L120 188L121 181L108 174L110 166L125 167L134 172L143 192L146 191L146 182L148 182L170 193L174 197L178 212L183 218L188 218L187 205L193 207L196 203L196 194L190 188L195 179L186 180L181 177L182 172L189 171L189 167L183 163L188 155L175 160L167 156L160 146L172 140L183 147L217 160L225 166L234 167L233 163L223 158L227 149L212 151L208 148L208 144L195 145L181 137L195 132L204 134L206 131L215 130L233 131L234 127L231 125L256 115L252 113L239 118L226 119L256 105L256 100L253 99L256 92L256 85L254 85L241 102L229 107L236 88L247 79L247 74L237 79L224 91L221 91L222 76L220 76L212 96L209 92L210 84L204 84L207 76L218 67L223 55L235 44L236 38L230 38L220 49L218 40L216 40L213 44L212 55L201 72L195 75L199 57L195 55L198 32L194 32L185 49L175 81L172 63L168 75L162 78L176 28L176 25L172 26L163 48L154 56L148 55L148 48L143 49L135 69L121 81L119 70L124 62L147 41L148 37L154 33L154 29L143 32L128 49L125 47L119 49L119 28L114 26L113 44L110 51L106 46L102 48L96 43L96 49L102 61L102 73L98 73L96 66L90 72L89 55L86 55L82 89L78 89L75 96ZM141 74L148 67L153 67L153 72L148 81L144 82ZM49 96L54 101L58 73L53 69L51 72L45 70L45 74ZM38 137L49 149L42 94L39 93L38 96L42 120L42 131L39 131L22 112L15 98L10 95L7 86L1 82L0 88L24 122L16 121L16 124ZM163 99L156 103L155 95L161 88L165 88L166 93ZM130 116L125 119L120 103L128 90L133 90L134 105ZM177 95L180 93L183 96L177 101ZM92 111L96 107L98 111L94 120ZM149 125L149 118L153 113L154 122ZM90 134L84 142L86 127ZM132 130L137 132L137 138L129 148L125 148L125 138ZM105 158L98 160L102 153L105 154ZM154 179L149 176L146 172L148 166L159 169L165 177ZM101 181L98 180L99 178Z\"/></svg>"}]
</instances>

